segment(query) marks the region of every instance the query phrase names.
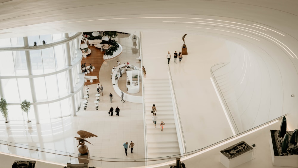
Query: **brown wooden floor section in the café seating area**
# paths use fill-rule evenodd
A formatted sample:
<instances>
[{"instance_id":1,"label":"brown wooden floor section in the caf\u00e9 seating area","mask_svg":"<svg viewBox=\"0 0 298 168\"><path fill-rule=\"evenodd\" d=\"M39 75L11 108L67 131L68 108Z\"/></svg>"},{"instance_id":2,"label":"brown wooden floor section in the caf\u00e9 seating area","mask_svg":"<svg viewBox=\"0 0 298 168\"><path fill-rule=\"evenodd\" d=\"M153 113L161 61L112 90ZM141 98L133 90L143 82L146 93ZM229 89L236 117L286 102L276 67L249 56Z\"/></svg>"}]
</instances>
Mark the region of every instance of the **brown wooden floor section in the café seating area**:
<instances>
[{"instance_id":1,"label":"brown wooden floor section in the caf\u00e9 seating area","mask_svg":"<svg viewBox=\"0 0 298 168\"><path fill-rule=\"evenodd\" d=\"M101 65L103 64L103 62L105 61L103 59L103 54L105 52L101 52L100 48L96 48L94 46L89 46L91 53L87 55L87 58L82 59L81 61L81 65L84 64L86 62L86 66L89 66L90 64L92 66L95 67L95 70L93 70L93 72L88 73L86 76L99 76L99 70ZM99 78L98 79L94 79L93 83L90 83L89 80L87 80L87 82L85 82L84 85L89 85L89 84L97 84L99 83Z\"/></svg>"}]
</instances>

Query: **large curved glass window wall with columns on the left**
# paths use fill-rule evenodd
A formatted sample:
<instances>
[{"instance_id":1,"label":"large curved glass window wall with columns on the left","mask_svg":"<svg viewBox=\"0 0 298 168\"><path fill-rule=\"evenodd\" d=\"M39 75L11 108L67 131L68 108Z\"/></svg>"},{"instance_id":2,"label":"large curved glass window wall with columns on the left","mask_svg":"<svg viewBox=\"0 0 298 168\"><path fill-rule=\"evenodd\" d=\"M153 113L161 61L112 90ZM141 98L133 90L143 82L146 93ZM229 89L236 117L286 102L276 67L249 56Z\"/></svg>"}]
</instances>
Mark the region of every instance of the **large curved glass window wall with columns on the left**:
<instances>
[{"instance_id":1,"label":"large curved glass window wall with columns on the left","mask_svg":"<svg viewBox=\"0 0 298 168\"><path fill-rule=\"evenodd\" d=\"M0 39L0 96L8 103L9 120L27 120L27 114L21 111L20 103L27 99L31 104L36 105L40 120L59 118L72 114L71 98L74 96L75 110L78 109L79 90L83 88L84 80L80 73L80 60L82 55L76 52L79 49L78 40L81 33L69 34L71 41L65 42L63 34L41 35L28 37L29 46L37 42L40 49L7 50L7 46L25 47L23 38ZM42 45L42 41L48 43L62 41L60 44L48 47ZM77 44L76 44L77 43ZM69 45L70 50L67 51ZM70 53L71 66L67 66L66 56ZM28 54L30 56L28 56ZM28 62L29 61L29 65ZM30 66L28 70L28 66ZM71 69L71 71L70 71ZM70 73L72 72L72 73ZM30 74L31 73L31 74ZM32 80L30 80L32 78ZM72 80L73 86L69 86ZM69 87L75 92L70 93ZM33 90L32 90L33 89ZM34 101L35 102L32 103ZM28 113L30 120L35 119L36 108L31 107ZM0 116L0 120L4 120Z\"/></svg>"}]
</instances>

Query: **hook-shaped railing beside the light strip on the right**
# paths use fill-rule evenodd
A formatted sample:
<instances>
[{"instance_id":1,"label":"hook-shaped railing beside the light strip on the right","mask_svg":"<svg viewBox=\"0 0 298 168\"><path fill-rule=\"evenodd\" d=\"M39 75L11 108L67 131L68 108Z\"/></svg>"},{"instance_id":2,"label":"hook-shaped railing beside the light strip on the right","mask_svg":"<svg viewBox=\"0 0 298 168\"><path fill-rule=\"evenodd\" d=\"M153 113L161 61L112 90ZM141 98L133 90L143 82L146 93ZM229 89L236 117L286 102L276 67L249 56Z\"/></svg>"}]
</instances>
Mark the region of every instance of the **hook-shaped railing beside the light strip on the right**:
<instances>
[{"instance_id":1,"label":"hook-shaped railing beside the light strip on the right","mask_svg":"<svg viewBox=\"0 0 298 168\"><path fill-rule=\"evenodd\" d=\"M220 68L226 66L227 64L229 64L229 62L223 62L223 63L214 64L214 65L212 65L212 67L210 68L210 72L211 72L211 76L212 76L212 79L213 79L213 81L214 81L214 84L216 85L216 88L217 88L217 90L218 90L218 93L220 94L221 100L222 100L222 102L223 102L223 104L224 104L224 108L226 109L226 112L227 112L228 115L229 115L229 119L230 119L231 123L233 124L234 131L235 131L235 133L236 133L236 135L237 135L237 134L239 134L240 132L239 132L239 130L238 130L238 127L237 127L237 125L236 125L236 123L235 123L235 120L234 120L234 118L233 118L233 116L232 116L232 113L231 113L231 111L230 111L230 109L229 109L229 106L228 106L228 104L226 103L226 99L224 98L224 95L223 95L223 93L222 93L222 91L221 91L221 88L219 87L218 82L217 82L217 80L216 80L216 78L215 78L215 75L214 75L214 72L215 72L216 70L218 70L218 69L220 69ZM216 67L216 68L215 68L215 67Z\"/></svg>"}]
</instances>

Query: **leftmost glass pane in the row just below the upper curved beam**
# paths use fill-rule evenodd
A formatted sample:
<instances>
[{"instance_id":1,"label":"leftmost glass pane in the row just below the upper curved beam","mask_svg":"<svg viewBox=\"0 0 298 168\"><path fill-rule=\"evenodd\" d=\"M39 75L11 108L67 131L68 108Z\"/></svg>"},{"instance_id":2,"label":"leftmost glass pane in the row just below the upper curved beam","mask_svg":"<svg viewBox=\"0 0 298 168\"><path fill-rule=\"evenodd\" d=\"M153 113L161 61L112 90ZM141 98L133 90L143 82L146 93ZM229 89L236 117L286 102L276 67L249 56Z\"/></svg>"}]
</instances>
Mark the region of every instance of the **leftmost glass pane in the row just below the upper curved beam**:
<instances>
[{"instance_id":1,"label":"leftmost glass pane in the row just below the upper curved beam","mask_svg":"<svg viewBox=\"0 0 298 168\"><path fill-rule=\"evenodd\" d=\"M11 51L0 52L0 74L1 76L15 75L13 53Z\"/></svg>"}]
</instances>

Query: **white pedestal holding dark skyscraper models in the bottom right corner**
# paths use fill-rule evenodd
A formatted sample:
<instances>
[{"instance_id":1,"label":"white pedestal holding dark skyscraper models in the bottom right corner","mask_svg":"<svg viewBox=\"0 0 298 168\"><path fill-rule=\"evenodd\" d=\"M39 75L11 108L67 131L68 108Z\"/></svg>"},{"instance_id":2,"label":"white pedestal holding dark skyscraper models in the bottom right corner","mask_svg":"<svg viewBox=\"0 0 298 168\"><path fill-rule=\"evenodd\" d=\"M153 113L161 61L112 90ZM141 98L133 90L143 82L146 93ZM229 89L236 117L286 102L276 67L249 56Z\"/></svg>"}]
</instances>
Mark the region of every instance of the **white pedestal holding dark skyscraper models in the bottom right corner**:
<instances>
[{"instance_id":1,"label":"white pedestal holding dark skyscraper models in the bottom right corner","mask_svg":"<svg viewBox=\"0 0 298 168\"><path fill-rule=\"evenodd\" d=\"M273 166L298 167L298 155L274 156L271 134L269 138L269 145Z\"/></svg>"}]
</instances>

